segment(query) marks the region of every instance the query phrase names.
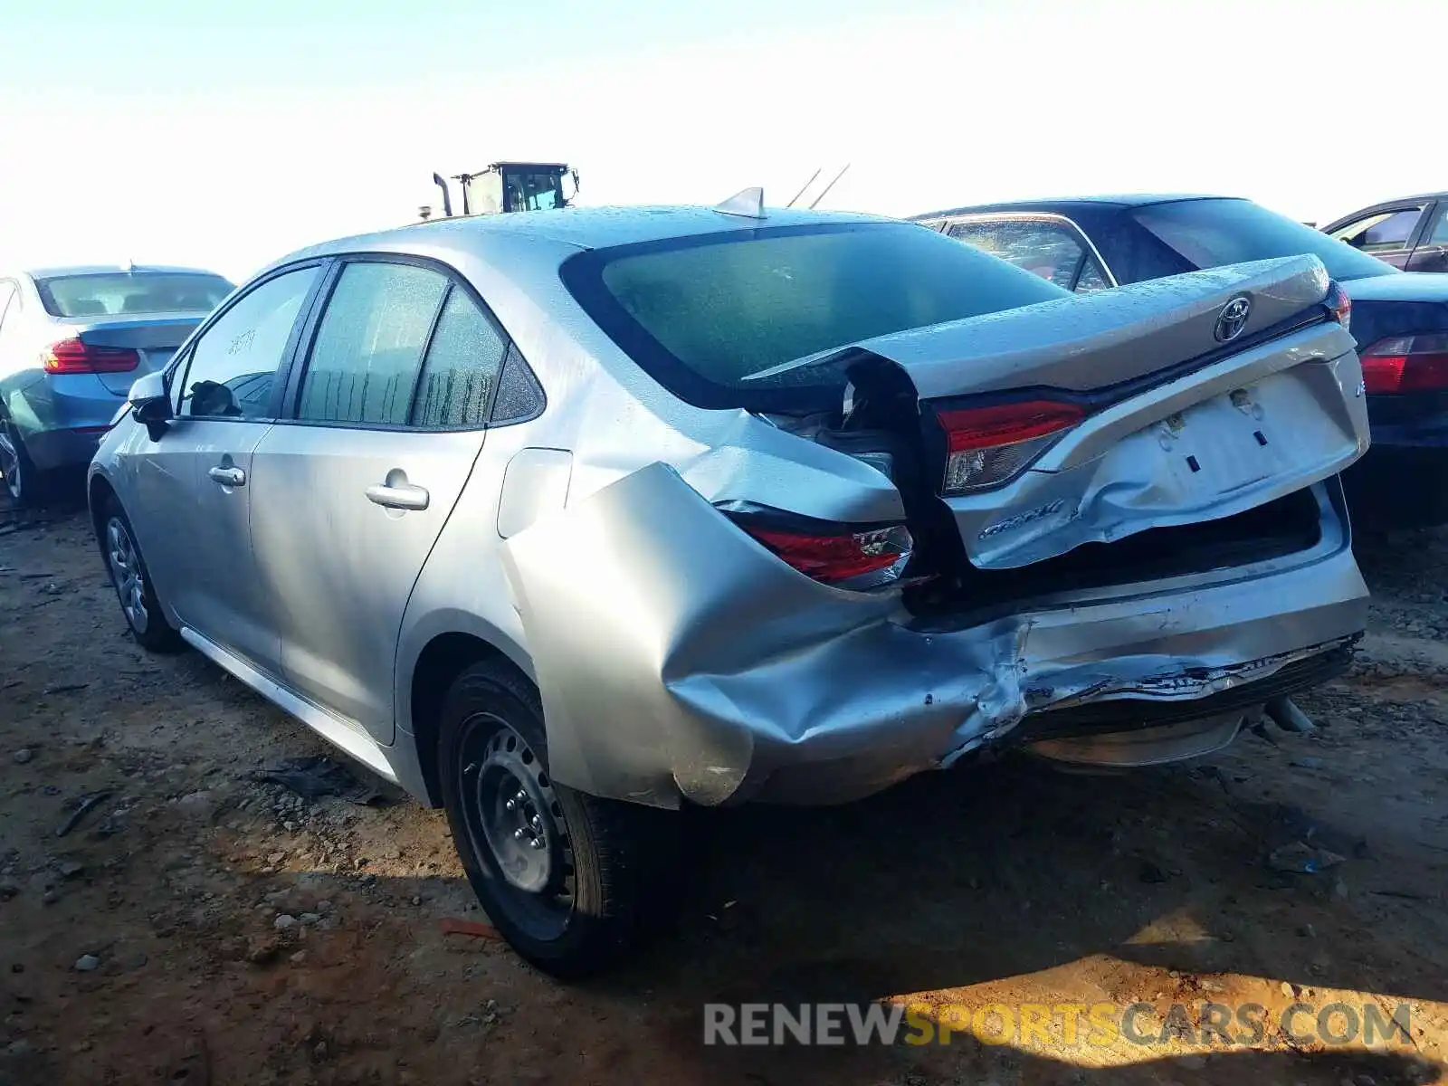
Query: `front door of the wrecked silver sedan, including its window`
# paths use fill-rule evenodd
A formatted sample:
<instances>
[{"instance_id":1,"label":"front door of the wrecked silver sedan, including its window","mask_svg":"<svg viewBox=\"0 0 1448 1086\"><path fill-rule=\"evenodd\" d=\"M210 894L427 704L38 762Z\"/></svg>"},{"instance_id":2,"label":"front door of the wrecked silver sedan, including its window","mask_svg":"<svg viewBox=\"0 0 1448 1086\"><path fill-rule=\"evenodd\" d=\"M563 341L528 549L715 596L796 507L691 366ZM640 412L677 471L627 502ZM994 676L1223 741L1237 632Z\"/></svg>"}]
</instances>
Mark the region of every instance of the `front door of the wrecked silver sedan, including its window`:
<instances>
[{"instance_id":1,"label":"front door of the wrecked silver sedan, including its window","mask_svg":"<svg viewBox=\"0 0 1448 1086\"><path fill-rule=\"evenodd\" d=\"M142 540L172 563L158 584L184 626L252 666L281 673L271 586L252 553L252 459L272 427L274 378L320 268L288 271L240 295L175 371L175 420L155 443L151 485L185 488L165 540ZM152 530L155 534L155 530Z\"/></svg>"}]
</instances>

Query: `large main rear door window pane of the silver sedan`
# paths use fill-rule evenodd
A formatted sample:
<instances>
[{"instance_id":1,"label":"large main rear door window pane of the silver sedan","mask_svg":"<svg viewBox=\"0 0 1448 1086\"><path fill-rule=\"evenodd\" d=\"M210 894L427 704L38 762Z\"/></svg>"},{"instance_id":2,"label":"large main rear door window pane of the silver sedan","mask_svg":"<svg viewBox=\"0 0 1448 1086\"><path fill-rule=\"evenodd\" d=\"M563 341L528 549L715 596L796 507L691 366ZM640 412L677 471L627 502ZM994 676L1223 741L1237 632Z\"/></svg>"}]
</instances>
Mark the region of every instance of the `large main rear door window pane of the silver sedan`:
<instances>
[{"instance_id":1,"label":"large main rear door window pane of the silver sedan","mask_svg":"<svg viewBox=\"0 0 1448 1086\"><path fill-rule=\"evenodd\" d=\"M407 426L447 287L430 268L348 264L313 339L297 418Z\"/></svg>"}]
</instances>

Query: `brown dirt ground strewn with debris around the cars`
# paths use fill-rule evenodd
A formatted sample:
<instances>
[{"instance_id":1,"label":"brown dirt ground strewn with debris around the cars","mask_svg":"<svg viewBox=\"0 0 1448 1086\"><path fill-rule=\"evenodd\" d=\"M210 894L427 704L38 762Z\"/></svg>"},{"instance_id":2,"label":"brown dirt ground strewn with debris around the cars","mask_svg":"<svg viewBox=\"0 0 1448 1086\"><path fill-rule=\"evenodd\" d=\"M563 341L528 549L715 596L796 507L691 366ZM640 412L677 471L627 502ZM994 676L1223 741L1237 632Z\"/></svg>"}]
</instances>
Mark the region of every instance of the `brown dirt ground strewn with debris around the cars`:
<instances>
[{"instance_id":1,"label":"brown dirt ground strewn with debris around the cars","mask_svg":"<svg viewBox=\"0 0 1448 1086\"><path fill-rule=\"evenodd\" d=\"M0 1086L1448 1082L1448 533L1358 552L1373 628L1300 699L1316 734L691 817L676 930L569 988L442 931L481 917L439 812L255 782L324 744L195 653L136 647L83 513L0 510ZM1274 869L1302 856L1332 866ZM702 1044L708 1002L805 1001L947 1024L1150 1003L1156 1040ZM1260 1040L1197 1035L1203 1003L1255 1005ZM1313 1037L1331 1003L1407 1035Z\"/></svg>"}]
</instances>

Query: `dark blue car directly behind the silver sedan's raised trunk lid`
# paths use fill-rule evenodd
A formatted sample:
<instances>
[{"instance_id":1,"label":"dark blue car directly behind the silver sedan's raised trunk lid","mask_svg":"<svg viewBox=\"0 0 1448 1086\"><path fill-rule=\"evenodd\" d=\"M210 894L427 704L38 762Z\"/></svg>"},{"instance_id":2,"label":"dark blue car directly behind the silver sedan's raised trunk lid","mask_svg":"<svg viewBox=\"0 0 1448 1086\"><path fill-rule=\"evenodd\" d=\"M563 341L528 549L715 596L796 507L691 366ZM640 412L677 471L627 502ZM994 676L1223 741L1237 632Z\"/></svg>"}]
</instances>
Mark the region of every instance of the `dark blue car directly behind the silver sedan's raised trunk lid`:
<instances>
[{"instance_id":1,"label":"dark blue car directly behind the silver sedan's raised trunk lid","mask_svg":"<svg viewBox=\"0 0 1448 1086\"><path fill-rule=\"evenodd\" d=\"M1448 274L1403 274L1229 197L1034 200L912 222L1077 292L1271 256L1318 256L1352 303L1373 426L1373 447L1344 476L1354 515L1371 527L1448 524Z\"/></svg>"}]
</instances>

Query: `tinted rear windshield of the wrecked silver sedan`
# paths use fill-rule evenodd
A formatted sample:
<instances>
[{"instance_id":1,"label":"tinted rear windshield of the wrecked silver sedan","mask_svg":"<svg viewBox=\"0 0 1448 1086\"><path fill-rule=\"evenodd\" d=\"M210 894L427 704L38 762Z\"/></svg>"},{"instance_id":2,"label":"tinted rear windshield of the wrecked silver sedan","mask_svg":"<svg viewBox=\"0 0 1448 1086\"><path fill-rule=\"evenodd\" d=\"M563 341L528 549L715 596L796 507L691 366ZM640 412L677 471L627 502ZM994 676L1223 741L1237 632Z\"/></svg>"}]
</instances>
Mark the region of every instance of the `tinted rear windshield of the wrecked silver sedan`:
<instances>
[{"instance_id":1,"label":"tinted rear windshield of the wrecked silver sedan","mask_svg":"<svg viewBox=\"0 0 1448 1086\"><path fill-rule=\"evenodd\" d=\"M873 336L1070 297L911 223L672 237L579 253L562 275L598 326L681 400L766 411L838 405L844 378L827 365L750 375Z\"/></svg>"}]
</instances>

